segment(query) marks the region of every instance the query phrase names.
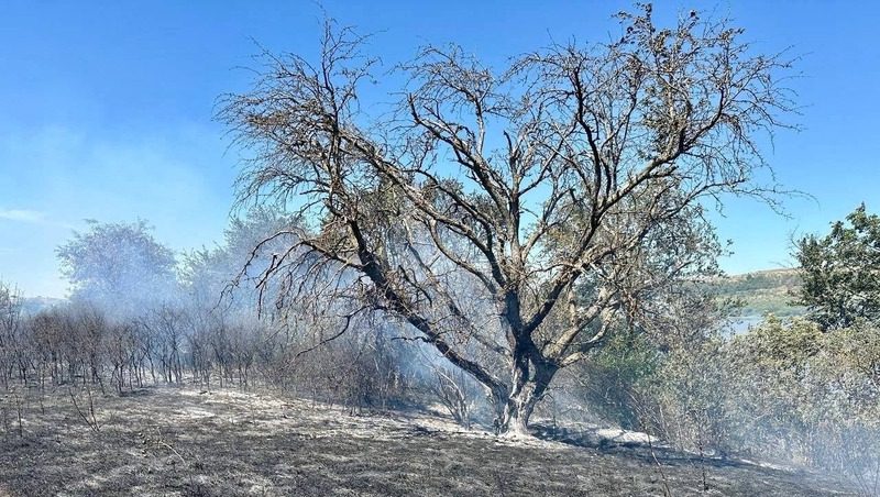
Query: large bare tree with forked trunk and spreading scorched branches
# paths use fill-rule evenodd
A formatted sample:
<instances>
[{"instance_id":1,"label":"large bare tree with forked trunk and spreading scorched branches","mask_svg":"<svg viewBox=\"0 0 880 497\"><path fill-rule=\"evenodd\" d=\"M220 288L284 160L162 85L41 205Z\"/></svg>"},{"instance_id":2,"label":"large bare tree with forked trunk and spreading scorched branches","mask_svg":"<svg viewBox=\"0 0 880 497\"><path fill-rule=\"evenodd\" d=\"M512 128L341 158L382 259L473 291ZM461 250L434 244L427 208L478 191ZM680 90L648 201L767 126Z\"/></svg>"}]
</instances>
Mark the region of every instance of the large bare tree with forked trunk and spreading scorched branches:
<instances>
[{"instance_id":1,"label":"large bare tree with forked trunk and spreading scorched branches","mask_svg":"<svg viewBox=\"0 0 880 497\"><path fill-rule=\"evenodd\" d=\"M250 150L241 198L311 225L262 281L284 283L282 305L346 309L339 332L359 312L400 320L524 432L560 368L708 267L703 199L763 197L759 144L792 110L789 62L727 21L618 16L619 40L503 70L424 48L374 119L359 91L375 60L351 30L329 23L314 62L267 54L220 119Z\"/></svg>"}]
</instances>

